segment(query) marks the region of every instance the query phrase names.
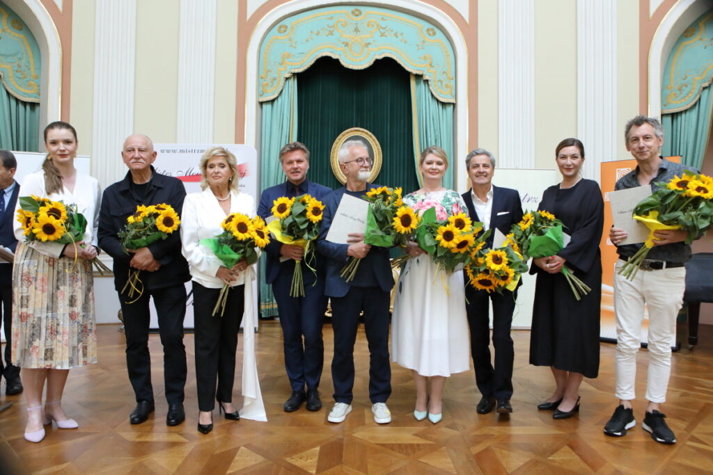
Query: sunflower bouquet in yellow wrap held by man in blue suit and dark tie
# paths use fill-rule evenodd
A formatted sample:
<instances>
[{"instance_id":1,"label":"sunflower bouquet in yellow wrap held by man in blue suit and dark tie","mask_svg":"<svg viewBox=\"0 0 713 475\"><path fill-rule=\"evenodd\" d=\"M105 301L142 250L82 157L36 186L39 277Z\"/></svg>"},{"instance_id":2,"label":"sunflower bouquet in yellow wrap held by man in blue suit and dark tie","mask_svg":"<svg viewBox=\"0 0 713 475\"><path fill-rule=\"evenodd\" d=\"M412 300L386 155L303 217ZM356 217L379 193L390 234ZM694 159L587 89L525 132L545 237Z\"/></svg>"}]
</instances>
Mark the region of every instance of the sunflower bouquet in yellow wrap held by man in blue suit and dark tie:
<instances>
[{"instance_id":1,"label":"sunflower bouquet in yellow wrap held by man in blue suit and dark tie","mask_svg":"<svg viewBox=\"0 0 713 475\"><path fill-rule=\"evenodd\" d=\"M296 198L279 197L272 202L272 216L275 216L267 229L282 244L293 244L304 249L304 263L313 272L314 241L319 236L319 226L324 217L324 204L309 194ZM292 285L289 296L304 297L304 278L302 266L296 260L292 273Z\"/></svg>"}]
</instances>

